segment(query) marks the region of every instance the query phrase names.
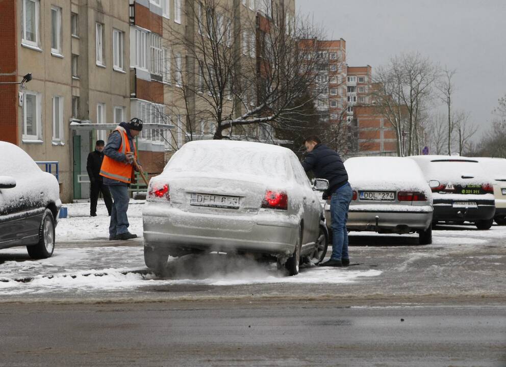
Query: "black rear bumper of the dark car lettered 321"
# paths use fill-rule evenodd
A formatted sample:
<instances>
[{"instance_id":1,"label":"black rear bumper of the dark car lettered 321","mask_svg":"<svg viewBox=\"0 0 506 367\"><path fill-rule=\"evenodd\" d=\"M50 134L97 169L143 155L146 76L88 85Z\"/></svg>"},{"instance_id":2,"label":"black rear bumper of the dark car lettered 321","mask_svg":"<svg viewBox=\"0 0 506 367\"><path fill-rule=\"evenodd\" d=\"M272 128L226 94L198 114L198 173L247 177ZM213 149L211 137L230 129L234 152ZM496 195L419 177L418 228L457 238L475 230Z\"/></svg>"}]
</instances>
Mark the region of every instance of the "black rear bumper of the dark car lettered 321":
<instances>
[{"instance_id":1,"label":"black rear bumper of the dark car lettered 321","mask_svg":"<svg viewBox=\"0 0 506 367\"><path fill-rule=\"evenodd\" d=\"M494 200L468 200L477 207L453 207L453 202L464 200L434 200L434 221L459 222L488 220L494 217Z\"/></svg>"}]
</instances>

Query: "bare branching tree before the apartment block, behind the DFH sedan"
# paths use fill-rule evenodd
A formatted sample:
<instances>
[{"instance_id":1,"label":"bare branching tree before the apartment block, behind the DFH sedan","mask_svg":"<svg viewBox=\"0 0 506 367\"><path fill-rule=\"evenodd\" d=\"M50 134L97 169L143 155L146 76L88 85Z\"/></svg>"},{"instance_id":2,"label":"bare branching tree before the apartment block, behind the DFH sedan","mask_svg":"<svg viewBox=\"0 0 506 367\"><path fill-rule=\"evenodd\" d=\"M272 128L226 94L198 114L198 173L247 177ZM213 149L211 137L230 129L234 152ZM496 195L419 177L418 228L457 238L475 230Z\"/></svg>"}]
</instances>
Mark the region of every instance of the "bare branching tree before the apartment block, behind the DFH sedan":
<instances>
[{"instance_id":1,"label":"bare branching tree before the apartment block, behind the DFH sedan","mask_svg":"<svg viewBox=\"0 0 506 367\"><path fill-rule=\"evenodd\" d=\"M170 31L172 49L186 53L186 67L172 63L179 102L169 110L183 110L190 128L212 121L214 139L247 139L258 126L271 135L273 127L303 122L319 96L309 91L325 63L315 42L321 30L283 6L265 2L261 12L245 16L240 4L187 2L189 30L182 34L174 25Z\"/></svg>"}]
</instances>

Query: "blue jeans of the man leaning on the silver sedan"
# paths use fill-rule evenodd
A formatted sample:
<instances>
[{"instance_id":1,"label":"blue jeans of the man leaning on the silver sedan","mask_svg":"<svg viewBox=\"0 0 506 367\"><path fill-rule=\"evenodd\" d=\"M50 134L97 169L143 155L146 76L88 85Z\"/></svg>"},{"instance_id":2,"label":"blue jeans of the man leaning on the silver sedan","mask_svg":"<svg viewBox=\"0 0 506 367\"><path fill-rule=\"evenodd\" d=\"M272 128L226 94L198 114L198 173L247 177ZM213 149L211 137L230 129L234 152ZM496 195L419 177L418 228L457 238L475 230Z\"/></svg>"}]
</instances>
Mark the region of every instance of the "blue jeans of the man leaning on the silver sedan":
<instances>
[{"instance_id":1,"label":"blue jeans of the man leaning on the silver sedan","mask_svg":"<svg viewBox=\"0 0 506 367\"><path fill-rule=\"evenodd\" d=\"M331 197L331 218L332 218L332 256L331 259L349 259L348 255L348 231L346 221L348 220L348 209L353 190L349 183L337 189Z\"/></svg>"}]
</instances>

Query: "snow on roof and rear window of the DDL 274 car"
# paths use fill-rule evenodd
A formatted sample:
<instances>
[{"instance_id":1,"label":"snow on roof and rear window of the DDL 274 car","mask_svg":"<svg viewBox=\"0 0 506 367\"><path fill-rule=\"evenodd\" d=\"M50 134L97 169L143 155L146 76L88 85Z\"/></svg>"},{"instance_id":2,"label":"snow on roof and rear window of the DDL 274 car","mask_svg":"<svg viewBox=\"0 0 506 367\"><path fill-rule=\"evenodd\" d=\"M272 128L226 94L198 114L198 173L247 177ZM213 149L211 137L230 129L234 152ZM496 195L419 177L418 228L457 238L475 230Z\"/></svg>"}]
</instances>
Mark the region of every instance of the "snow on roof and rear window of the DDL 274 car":
<instances>
[{"instance_id":1,"label":"snow on roof and rear window of the DDL 274 car","mask_svg":"<svg viewBox=\"0 0 506 367\"><path fill-rule=\"evenodd\" d=\"M369 189L425 190L417 164L400 157L364 156L344 162L351 186Z\"/></svg>"}]
</instances>

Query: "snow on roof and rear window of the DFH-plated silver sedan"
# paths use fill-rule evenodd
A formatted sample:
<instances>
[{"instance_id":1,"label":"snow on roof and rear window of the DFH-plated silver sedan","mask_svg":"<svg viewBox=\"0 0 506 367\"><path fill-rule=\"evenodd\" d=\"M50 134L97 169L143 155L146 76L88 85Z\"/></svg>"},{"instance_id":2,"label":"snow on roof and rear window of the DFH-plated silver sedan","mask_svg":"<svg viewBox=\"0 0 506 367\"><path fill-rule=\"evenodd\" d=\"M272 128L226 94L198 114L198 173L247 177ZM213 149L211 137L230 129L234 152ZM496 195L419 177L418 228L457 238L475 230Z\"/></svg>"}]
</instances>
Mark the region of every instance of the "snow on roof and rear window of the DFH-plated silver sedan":
<instances>
[{"instance_id":1,"label":"snow on roof and rear window of the DFH-plated silver sedan","mask_svg":"<svg viewBox=\"0 0 506 367\"><path fill-rule=\"evenodd\" d=\"M188 142L165 166L164 172L199 172L269 176L291 175L290 149L255 142L204 140Z\"/></svg>"}]
</instances>

